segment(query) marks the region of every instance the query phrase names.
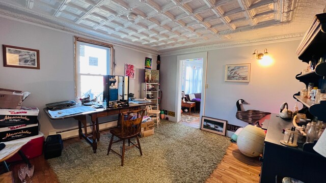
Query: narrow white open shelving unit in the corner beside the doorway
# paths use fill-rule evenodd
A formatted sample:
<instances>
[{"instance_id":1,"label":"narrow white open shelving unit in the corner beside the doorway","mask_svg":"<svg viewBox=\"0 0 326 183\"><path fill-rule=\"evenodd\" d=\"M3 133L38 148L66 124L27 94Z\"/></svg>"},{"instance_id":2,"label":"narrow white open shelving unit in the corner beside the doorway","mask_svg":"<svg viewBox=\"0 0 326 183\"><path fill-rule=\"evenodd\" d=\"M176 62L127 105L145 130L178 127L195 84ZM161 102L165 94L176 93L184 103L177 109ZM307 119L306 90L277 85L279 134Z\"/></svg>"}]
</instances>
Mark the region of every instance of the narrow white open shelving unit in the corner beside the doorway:
<instances>
[{"instance_id":1,"label":"narrow white open shelving unit in the corner beside the doorway","mask_svg":"<svg viewBox=\"0 0 326 183\"><path fill-rule=\"evenodd\" d=\"M158 92L159 92L159 83L142 83L141 84L141 98L147 98L155 104L152 108L158 109ZM150 97L152 96L152 97Z\"/></svg>"}]
</instances>

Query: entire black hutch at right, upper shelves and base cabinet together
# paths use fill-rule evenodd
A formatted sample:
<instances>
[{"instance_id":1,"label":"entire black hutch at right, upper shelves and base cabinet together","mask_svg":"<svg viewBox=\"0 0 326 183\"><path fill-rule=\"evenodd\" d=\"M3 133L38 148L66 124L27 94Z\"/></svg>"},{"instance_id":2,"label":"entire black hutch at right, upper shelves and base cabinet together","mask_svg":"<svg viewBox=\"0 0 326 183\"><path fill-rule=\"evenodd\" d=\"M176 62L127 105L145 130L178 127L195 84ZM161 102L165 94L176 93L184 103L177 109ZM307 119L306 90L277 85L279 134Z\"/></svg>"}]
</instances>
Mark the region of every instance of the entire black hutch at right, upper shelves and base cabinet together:
<instances>
[{"instance_id":1,"label":"entire black hutch at right, upper shelves and base cabinet together","mask_svg":"<svg viewBox=\"0 0 326 183\"><path fill-rule=\"evenodd\" d=\"M316 15L312 25L305 34L303 41L296 53L303 62L309 63L314 57L326 57L326 13ZM318 88L326 89L326 63L317 65L314 71L297 74L295 78L308 86L310 82ZM316 104L314 101L303 98L300 93L293 98L301 102L304 107L299 112L306 113L308 118L318 117L326 122L326 101ZM267 133L264 141L264 152L260 182L274 183L285 176L300 179L303 182L319 182L323 179L326 169L326 158L312 150L312 143L300 144L298 147L289 147L280 143L283 139L282 129L291 128L293 125L288 120L282 119L278 114L272 114L268 122ZM301 161L304 160L304 161ZM306 161L308 160L308 161Z\"/></svg>"}]
</instances>

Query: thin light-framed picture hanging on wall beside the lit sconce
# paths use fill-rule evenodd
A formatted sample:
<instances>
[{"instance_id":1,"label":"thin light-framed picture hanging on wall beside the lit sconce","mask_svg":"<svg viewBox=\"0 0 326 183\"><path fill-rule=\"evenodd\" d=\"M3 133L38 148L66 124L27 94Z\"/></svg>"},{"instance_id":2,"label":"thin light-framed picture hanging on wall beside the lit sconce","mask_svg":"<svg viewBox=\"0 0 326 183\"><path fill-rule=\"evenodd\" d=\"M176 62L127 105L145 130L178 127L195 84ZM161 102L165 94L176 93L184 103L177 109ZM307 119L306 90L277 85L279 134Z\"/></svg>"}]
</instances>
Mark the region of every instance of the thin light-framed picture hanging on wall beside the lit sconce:
<instances>
[{"instance_id":1,"label":"thin light-framed picture hanging on wall beside the lit sconce","mask_svg":"<svg viewBox=\"0 0 326 183\"><path fill-rule=\"evenodd\" d=\"M232 64L225 66L225 81L249 82L251 64Z\"/></svg>"}]
</instances>

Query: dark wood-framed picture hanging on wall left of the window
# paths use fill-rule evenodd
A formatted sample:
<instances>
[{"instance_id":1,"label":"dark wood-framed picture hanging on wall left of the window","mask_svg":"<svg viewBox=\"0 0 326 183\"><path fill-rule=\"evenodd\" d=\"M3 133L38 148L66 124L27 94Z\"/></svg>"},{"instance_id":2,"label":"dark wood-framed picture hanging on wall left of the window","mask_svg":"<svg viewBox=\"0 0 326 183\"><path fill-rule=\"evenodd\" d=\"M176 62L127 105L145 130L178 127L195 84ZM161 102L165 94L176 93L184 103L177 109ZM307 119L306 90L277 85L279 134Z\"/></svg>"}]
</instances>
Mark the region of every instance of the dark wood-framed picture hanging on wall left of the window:
<instances>
[{"instance_id":1,"label":"dark wood-framed picture hanging on wall left of the window","mask_svg":"<svg viewBox=\"0 0 326 183\"><path fill-rule=\"evenodd\" d=\"M30 48L2 45L4 67L40 69L40 51Z\"/></svg>"}]
</instances>

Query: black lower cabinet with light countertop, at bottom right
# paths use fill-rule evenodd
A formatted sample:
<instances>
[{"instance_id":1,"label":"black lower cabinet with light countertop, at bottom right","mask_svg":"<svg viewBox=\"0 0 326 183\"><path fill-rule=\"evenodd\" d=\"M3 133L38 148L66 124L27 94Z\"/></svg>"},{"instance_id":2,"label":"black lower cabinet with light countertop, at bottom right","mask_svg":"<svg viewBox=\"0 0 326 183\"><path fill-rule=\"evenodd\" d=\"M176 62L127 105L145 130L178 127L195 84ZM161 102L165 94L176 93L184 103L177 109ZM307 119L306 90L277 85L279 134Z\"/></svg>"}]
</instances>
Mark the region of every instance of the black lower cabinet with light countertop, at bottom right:
<instances>
[{"instance_id":1,"label":"black lower cabinet with light countertop, at bottom right","mask_svg":"<svg viewBox=\"0 0 326 183\"><path fill-rule=\"evenodd\" d=\"M264 142L260 182L275 183L277 178L285 176L305 183L325 182L326 158L304 151L300 146L288 147L281 144L283 129L291 127L291 120L271 114Z\"/></svg>"}]
</instances>

